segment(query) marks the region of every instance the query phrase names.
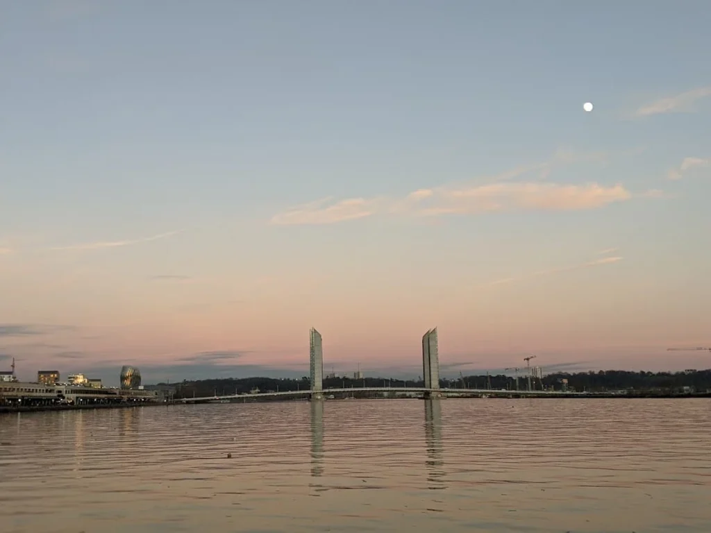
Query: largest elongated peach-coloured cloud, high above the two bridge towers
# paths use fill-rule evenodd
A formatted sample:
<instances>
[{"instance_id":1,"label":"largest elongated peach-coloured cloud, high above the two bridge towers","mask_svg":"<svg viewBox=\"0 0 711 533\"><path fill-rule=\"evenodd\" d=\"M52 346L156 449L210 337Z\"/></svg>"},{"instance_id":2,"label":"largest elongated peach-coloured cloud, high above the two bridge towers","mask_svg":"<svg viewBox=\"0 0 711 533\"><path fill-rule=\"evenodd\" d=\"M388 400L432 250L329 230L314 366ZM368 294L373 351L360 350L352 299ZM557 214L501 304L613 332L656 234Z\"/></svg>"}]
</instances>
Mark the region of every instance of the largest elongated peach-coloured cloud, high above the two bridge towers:
<instances>
[{"instance_id":1,"label":"largest elongated peach-coloured cloud, high above the two bridge towers","mask_svg":"<svg viewBox=\"0 0 711 533\"><path fill-rule=\"evenodd\" d=\"M491 183L470 188L419 189L404 198L351 198L331 205L325 205L321 200L318 204L299 206L275 215L272 224L333 224L375 214L432 217L521 210L588 210L630 198L632 194L619 183Z\"/></svg>"}]
</instances>

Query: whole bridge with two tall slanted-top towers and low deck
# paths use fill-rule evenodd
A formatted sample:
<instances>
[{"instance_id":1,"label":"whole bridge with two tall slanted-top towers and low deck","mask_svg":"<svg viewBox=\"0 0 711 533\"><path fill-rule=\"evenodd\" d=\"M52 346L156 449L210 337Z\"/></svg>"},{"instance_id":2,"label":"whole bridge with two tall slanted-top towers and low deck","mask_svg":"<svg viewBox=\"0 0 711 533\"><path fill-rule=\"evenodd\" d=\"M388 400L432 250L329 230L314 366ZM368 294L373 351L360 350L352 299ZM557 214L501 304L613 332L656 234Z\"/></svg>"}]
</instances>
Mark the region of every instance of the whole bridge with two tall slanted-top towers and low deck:
<instances>
[{"instance_id":1,"label":"whole bridge with two tall slanted-top towers and low deck","mask_svg":"<svg viewBox=\"0 0 711 533\"><path fill-rule=\"evenodd\" d=\"M341 389L324 389L324 340L321 333L311 328L309 331L309 362L311 388L296 391L258 392L256 394L228 394L201 398L183 398L184 403L214 402L231 399L269 398L269 397L299 397L324 399L324 394L341 394L353 392L384 392L384 393L414 393L422 394L425 399L451 397L461 395L504 396L504 397L561 397L574 396L575 392L541 391L541 390L491 390L491 389L450 389L439 386L439 348L437 343L437 328L427 330L422 335L422 376L424 387L349 387Z\"/></svg>"}]
</instances>

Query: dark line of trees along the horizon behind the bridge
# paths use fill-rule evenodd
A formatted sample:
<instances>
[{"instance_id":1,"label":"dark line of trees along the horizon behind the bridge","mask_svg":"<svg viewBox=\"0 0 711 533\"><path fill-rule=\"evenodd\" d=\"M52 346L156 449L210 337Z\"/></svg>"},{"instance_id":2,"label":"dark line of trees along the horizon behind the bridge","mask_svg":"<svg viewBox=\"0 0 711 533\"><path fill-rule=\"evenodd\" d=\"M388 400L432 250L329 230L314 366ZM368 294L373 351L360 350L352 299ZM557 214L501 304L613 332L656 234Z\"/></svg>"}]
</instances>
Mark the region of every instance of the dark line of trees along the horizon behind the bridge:
<instances>
[{"instance_id":1,"label":"dark line of trees along the horizon behind the bridge","mask_svg":"<svg viewBox=\"0 0 711 533\"><path fill-rule=\"evenodd\" d=\"M160 384L165 385L165 384ZM245 377L227 379L184 380L171 384L175 398L248 394L250 392L286 392L309 390L309 378L275 379L271 377ZM324 389L351 387L424 387L422 380L393 379L387 377L325 378ZM470 375L464 378L441 379L440 387L466 389L507 389L515 391L517 381L508 375ZM599 370L589 372L555 372L542 379L531 379L533 389L574 390L587 392L612 392L620 390L680 392L687 387L695 392L711 390L711 370L685 370L683 372L631 372L626 370ZM528 377L519 376L518 389L528 388Z\"/></svg>"}]
</instances>

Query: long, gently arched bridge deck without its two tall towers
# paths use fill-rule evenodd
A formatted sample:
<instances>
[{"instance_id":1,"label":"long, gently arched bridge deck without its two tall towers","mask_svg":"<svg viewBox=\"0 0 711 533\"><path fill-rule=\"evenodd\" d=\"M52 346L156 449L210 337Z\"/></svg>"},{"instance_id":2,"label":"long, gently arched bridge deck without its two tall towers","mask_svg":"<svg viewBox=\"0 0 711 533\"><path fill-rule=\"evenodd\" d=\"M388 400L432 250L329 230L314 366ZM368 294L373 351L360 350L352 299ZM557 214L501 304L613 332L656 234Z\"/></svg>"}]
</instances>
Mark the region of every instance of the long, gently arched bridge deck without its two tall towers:
<instances>
[{"instance_id":1,"label":"long, gently arched bridge deck without its two tall towers","mask_svg":"<svg viewBox=\"0 0 711 533\"><path fill-rule=\"evenodd\" d=\"M575 396L577 394L582 394L580 392L560 392L560 391L543 391L543 390L489 390L489 389L427 389L424 387L347 387L338 389L323 389L321 391L313 391L311 389L298 390L298 391L282 391L282 392L258 392L257 394L227 394L223 396L208 396L201 398L183 398L183 402L209 402L210 400L221 400L221 399L240 399L240 398L265 398L265 397L275 397L275 396L310 396L311 394L323 394L328 396L328 394L342 393L342 392L439 392L446 396L451 396L454 394L488 394L491 396Z\"/></svg>"}]
</instances>

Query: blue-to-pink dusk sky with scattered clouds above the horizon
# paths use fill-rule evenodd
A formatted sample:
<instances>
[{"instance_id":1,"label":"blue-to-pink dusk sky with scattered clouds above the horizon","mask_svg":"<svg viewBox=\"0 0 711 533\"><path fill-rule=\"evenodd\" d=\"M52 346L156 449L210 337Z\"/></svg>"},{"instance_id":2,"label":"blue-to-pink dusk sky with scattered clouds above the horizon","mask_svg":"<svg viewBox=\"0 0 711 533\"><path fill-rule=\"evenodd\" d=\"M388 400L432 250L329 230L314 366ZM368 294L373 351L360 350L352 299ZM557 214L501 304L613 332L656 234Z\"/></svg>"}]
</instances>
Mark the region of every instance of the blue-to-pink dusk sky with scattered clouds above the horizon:
<instances>
[{"instance_id":1,"label":"blue-to-pink dusk sky with scattered clouds above the horizon","mask_svg":"<svg viewBox=\"0 0 711 533\"><path fill-rule=\"evenodd\" d=\"M591 6L4 4L0 367L711 367L711 11Z\"/></svg>"}]
</instances>

